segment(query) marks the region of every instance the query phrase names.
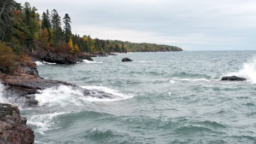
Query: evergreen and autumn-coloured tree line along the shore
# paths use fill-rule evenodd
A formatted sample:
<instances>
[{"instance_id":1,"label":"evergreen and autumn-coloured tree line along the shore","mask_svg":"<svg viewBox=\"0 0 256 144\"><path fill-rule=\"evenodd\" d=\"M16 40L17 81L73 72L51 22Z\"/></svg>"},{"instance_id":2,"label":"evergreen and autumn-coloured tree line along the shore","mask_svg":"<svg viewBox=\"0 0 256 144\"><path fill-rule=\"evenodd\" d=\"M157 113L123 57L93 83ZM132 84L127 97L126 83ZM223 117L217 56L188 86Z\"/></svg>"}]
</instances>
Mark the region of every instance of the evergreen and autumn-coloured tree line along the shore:
<instances>
[{"instance_id":1,"label":"evergreen and autumn-coloured tree line along the shore","mask_svg":"<svg viewBox=\"0 0 256 144\"><path fill-rule=\"evenodd\" d=\"M27 2L21 5L14 0L1 0L0 11L0 42L7 43L14 52L40 48L68 53L182 50L168 45L93 39L90 35L80 37L79 34L72 33L72 21L68 14L61 19L57 10L53 9L40 15L37 9Z\"/></svg>"}]
</instances>

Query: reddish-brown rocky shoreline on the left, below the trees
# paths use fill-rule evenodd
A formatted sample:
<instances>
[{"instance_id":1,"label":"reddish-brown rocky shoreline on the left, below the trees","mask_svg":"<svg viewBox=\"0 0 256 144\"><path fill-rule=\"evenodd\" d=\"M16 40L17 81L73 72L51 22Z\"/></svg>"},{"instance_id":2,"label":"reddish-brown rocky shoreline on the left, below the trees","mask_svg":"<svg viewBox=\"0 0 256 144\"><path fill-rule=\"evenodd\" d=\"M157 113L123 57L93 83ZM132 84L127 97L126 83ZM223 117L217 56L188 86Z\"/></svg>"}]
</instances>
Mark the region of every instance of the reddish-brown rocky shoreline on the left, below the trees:
<instances>
[{"instance_id":1,"label":"reddish-brown rocky shoreline on the left, below the trees","mask_svg":"<svg viewBox=\"0 0 256 144\"><path fill-rule=\"evenodd\" d=\"M92 61L91 57L86 53L80 53L79 56L75 56L73 59L69 59L69 56L65 55L55 57L56 54L51 52L36 52L29 53L29 55L32 55L31 59L34 61L41 60L60 64L77 63L80 62L80 59L83 60L84 58ZM42 57L37 57L38 55ZM49 56L50 60L45 58L47 56ZM18 67L11 75L0 71L0 82L5 87L2 97L12 98L14 101L19 101L22 103L22 107L34 107L38 106L38 101L35 99L34 94L40 93L39 90L58 87L61 85L71 87L74 90L79 90L83 93L84 97L90 96L109 99L113 97L112 94L89 91L88 89L79 87L72 83L57 80L45 80L43 77L39 76L37 64L31 59L24 60L20 67ZM6 109L5 106L7 106ZM1 112L3 113L1 114ZM13 114L10 116L7 115L8 113ZM25 125L26 118L19 116L19 109L17 106L0 104L0 121L0 143L33 143L33 131L30 127Z\"/></svg>"}]
</instances>

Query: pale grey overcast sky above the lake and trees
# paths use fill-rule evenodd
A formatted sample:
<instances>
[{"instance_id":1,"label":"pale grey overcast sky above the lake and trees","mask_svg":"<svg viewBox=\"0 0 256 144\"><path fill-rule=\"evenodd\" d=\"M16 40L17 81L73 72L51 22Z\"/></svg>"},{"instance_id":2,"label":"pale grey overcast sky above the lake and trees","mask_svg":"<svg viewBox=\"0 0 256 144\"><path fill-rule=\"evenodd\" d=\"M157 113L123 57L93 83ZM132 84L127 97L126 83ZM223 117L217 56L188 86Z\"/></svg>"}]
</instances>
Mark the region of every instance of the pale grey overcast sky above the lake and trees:
<instances>
[{"instance_id":1,"label":"pale grey overcast sky above the lake and trees","mask_svg":"<svg viewBox=\"0 0 256 144\"><path fill-rule=\"evenodd\" d=\"M255 0L16 0L68 13L72 32L186 51L256 50Z\"/></svg>"}]
</instances>

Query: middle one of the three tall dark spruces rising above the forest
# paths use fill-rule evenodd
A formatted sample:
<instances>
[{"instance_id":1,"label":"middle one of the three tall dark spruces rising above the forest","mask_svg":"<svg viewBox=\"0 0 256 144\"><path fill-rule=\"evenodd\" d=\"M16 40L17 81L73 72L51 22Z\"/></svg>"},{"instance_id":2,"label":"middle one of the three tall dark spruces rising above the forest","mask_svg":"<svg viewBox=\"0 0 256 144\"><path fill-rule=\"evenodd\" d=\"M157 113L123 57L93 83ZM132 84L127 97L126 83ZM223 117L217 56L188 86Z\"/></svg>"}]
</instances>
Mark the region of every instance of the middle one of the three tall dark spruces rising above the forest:
<instances>
[{"instance_id":1,"label":"middle one of the three tall dark spruces rising above the forest","mask_svg":"<svg viewBox=\"0 0 256 144\"><path fill-rule=\"evenodd\" d=\"M61 44L62 29L61 29L61 17L57 13L57 10L51 11L51 27L53 28L53 43L54 46Z\"/></svg>"}]
</instances>

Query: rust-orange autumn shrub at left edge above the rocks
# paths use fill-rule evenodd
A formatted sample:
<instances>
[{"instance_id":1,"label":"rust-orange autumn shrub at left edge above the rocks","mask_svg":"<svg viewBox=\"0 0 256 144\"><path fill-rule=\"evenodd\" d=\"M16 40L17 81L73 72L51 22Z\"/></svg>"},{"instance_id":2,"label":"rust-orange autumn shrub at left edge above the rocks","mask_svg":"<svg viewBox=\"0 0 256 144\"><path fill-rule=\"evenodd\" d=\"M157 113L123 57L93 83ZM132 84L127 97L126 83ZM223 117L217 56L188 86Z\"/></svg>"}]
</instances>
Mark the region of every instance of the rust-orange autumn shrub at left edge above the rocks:
<instances>
[{"instance_id":1,"label":"rust-orange autumn shrub at left edge above the rocks","mask_svg":"<svg viewBox=\"0 0 256 144\"><path fill-rule=\"evenodd\" d=\"M18 65L15 63L16 54L9 46L0 43L0 71L5 74L13 74Z\"/></svg>"}]
</instances>

